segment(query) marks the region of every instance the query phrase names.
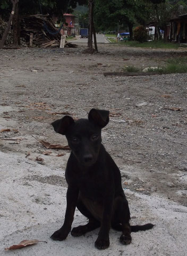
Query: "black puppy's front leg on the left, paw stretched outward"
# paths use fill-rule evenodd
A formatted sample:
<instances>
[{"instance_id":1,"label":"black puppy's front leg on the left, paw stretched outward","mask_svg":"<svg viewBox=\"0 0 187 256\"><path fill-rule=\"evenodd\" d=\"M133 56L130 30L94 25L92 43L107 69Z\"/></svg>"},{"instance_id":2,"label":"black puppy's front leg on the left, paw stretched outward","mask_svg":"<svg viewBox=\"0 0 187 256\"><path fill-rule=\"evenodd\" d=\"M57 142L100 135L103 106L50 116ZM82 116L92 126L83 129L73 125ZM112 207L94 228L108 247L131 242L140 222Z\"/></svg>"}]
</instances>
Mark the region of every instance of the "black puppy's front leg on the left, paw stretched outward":
<instances>
[{"instance_id":1,"label":"black puppy's front leg on the left, paw stretched outward","mask_svg":"<svg viewBox=\"0 0 187 256\"><path fill-rule=\"evenodd\" d=\"M67 195L66 195L67 206L66 206L64 224L60 229L55 231L55 233L50 237L53 240L62 241L70 233L74 212L75 212L75 207L77 205L78 195L79 195L79 190L77 188L74 188L71 186L67 188Z\"/></svg>"}]
</instances>

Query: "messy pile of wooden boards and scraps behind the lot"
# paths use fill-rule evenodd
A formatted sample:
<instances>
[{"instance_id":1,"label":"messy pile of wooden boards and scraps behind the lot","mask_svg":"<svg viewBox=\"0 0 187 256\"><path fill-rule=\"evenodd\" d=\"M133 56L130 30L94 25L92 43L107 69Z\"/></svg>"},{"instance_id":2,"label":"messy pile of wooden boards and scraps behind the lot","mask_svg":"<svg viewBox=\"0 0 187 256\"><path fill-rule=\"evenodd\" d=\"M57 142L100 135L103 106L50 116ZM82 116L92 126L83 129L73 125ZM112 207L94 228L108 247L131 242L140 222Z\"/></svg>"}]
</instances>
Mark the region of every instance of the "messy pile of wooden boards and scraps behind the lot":
<instances>
[{"instance_id":1,"label":"messy pile of wooden boards and scraps behind the lot","mask_svg":"<svg viewBox=\"0 0 187 256\"><path fill-rule=\"evenodd\" d=\"M48 14L27 15L20 19L21 37L27 45L40 47L59 47L61 34L55 27L55 23ZM76 47L74 44L65 44L68 47Z\"/></svg>"}]
</instances>

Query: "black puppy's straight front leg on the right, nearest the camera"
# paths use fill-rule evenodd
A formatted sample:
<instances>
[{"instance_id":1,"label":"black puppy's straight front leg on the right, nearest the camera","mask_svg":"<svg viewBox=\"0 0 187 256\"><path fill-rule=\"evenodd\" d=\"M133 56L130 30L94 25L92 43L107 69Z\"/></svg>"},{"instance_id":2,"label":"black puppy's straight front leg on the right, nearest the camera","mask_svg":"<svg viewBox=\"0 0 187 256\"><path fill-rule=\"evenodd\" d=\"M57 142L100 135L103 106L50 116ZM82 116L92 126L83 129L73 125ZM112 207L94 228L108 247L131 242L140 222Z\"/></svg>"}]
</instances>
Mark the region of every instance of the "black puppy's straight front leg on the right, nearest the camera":
<instances>
[{"instance_id":1,"label":"black puppy's straight front leg on the right, nearest the camera","mask_svg":"<svg viewBox=\"0 0 187 256\"><path fill-rule=\"evenodd\" d=\"M99 235L95 242L95 246L100 250L108 248L110 244L109 230L111 228L113 201L113 196L106 196L104 198L103 218L101 220Z\"/></svg>"}]
</instances>

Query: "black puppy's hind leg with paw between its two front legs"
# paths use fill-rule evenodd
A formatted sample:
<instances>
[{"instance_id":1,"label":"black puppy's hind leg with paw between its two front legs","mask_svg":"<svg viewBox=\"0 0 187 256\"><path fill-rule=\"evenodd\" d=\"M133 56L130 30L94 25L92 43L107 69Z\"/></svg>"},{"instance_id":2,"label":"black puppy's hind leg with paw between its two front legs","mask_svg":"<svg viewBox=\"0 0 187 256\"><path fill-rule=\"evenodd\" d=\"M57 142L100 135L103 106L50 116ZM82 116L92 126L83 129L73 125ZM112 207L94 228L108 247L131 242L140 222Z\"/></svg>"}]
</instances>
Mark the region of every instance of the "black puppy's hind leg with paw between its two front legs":
<instances>
[{"instance_id":1,"label":"black puppy's hind leg with paw between its two front legs","mask_svg":"<svg viewBox=\"0 0 187 256\"><path fill-rule=\"evenodd\" d=\"M76 228L73 228L71 230L72 236L82 236L86 234L89 231L92 231L98 227L100 227L100 221L96 220L92 214L89 212L89 210L84 206L82 201L79 199L77 204L78 210L88 218L89 222L86 225L78 226Z\"/></svg>"}]
</instances>

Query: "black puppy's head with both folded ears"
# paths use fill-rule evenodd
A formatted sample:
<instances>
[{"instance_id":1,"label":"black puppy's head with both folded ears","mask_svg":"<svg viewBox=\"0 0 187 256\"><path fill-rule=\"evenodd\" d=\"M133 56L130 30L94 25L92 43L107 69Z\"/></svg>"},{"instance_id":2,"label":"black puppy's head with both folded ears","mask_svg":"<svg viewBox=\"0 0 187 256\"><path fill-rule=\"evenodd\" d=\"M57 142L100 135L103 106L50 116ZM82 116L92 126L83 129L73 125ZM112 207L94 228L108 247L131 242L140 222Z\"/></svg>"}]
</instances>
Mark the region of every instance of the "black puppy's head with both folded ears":
<instances>
[{"instance_id":1,"label":"black puppy's head with both folded ears","mask_svg":"<svg viewBox=\"0 0 187 256\"><path fill-rule=\"evenodd\" d=\"M92 108L88 119L74 121L64 116L52 123L55 132L66 136L68 144L83 166L96 163L101 144L101 129L109 122L109 111Z\"/></svg>"}]
</instances>

